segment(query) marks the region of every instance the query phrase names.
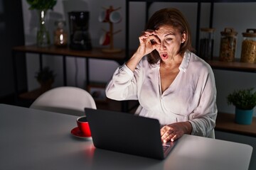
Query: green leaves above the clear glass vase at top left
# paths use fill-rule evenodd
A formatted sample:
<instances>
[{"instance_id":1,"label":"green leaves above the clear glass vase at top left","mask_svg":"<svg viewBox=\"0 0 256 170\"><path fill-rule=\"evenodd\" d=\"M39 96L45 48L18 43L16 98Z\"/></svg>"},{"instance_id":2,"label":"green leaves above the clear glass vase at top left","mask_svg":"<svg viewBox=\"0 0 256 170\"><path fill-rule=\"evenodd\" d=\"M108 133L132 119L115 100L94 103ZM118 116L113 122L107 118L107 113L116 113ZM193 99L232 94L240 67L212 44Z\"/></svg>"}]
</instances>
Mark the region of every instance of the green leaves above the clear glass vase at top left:
<instances>
[{"instance_id":1,"label":"green leaves above the clear glass vase at top left","mask_svg":"<svg viewBox=\"0 0 256 170\"><path fill-rule=\"evenodd\" d=\"M30 5L29 9L53 9L57 0L26 0Z\"/></svg>"}]
</instances>

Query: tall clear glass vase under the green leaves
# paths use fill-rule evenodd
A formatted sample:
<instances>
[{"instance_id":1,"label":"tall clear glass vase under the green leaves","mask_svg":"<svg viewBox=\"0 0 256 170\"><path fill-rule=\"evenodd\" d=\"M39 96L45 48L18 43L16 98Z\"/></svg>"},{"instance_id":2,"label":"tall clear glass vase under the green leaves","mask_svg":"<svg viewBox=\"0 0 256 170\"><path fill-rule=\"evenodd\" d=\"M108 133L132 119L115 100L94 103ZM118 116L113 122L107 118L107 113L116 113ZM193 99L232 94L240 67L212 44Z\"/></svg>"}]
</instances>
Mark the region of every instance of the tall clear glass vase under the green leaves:
<instances>
[{"instance_id":1,"label":"tall clear glass vase under the green leaves","mask_svg":"<svg viewBox=\"0 0 256 170\"><path fill-rule=\"evenodd\" d=\"M38 10L39 27L36 35L36 44L38 47L50 46L50 34L46 28L46 14L47 9Z\"/></svg>"}]
</instances>

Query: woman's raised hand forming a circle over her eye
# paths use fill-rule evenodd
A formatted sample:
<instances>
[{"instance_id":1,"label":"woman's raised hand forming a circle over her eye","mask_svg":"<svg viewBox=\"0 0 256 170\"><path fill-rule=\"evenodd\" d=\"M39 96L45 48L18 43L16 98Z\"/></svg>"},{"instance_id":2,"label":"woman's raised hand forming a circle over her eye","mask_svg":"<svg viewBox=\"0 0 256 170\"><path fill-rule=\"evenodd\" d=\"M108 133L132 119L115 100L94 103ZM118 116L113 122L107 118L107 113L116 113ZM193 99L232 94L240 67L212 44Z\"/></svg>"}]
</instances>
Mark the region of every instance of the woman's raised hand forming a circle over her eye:
<instances>
[{"instance_id":1,"label":"woman's raised hand forming a circle over her eye","mask_svg":"<svg viewBox=\"0 0 256 170\"><path fill-rule=\"evenodd\" d=\"M137 52L142 56L147 55L159 47L160 43L154 30L146 30L139 36L139 48Z\"/></svg>"}]
</instances>

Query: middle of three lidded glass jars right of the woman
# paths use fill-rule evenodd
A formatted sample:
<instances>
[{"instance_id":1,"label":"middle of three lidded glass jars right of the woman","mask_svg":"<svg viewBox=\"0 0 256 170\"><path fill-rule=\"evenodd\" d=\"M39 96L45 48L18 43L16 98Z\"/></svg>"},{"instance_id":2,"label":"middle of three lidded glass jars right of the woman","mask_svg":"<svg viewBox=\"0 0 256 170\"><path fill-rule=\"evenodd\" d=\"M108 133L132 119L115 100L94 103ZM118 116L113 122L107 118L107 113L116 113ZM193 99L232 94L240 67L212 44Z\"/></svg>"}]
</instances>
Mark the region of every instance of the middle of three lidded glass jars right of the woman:
<instances>
[{"instance_id":1,"label":"middle of three lidded glass jars right of the woman","mask_svg":"<svg viewBox=\"0 0 256 170\"><path fill-rule=\"evenodd\" d=\"M220 61L234 62L238 32L233 28L225 28L220 34Z\"/></svg>"}]
</instances>

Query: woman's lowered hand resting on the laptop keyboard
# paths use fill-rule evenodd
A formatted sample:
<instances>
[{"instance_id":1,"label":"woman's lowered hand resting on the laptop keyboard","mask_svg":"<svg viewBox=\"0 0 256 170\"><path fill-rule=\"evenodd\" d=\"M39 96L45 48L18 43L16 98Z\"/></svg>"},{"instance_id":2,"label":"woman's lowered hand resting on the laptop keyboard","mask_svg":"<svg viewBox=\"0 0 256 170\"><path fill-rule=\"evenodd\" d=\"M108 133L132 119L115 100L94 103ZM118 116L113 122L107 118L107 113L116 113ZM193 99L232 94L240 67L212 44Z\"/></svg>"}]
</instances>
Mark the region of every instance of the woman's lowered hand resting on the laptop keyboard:
<instances>
[{"instance_id":1,"label":"woman's lowered hand resting on the laptop keyboard","mask_svg":"<svg viewBox=\"0 0 256 170\"><path fill-rule=\"evenodd\" d=\"M192 125L189 122L172 123L161 128L160 132L163 142L169 142L169 140L174 142L174 140L177 140L183 134L191 134Z\"/></svg>"}]
</instances>

